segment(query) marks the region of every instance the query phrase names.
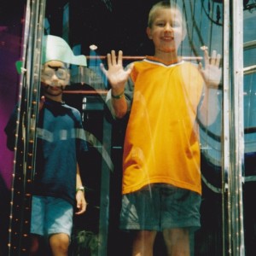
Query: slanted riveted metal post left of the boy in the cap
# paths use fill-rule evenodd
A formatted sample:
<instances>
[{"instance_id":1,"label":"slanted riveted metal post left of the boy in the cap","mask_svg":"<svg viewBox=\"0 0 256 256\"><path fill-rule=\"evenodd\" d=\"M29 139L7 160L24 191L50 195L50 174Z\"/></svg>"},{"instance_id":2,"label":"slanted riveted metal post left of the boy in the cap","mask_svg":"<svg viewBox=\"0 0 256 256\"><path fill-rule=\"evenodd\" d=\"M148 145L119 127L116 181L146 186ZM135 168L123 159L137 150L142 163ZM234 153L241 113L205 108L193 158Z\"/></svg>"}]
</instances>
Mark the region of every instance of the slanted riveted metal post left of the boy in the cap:
<instances>
[{"instance_id":1,"label":"slanted riveted metal post left of the boy in the cap","mask_svg":"<svg viewBox=\"0 0 256 256\"><path fill-rule=\"evenodd\" d=\"M44 9L45 0L26 2L23 65L15 134L15 166L10 202L9 256L28 254Z\"/></svg>"}]
</instances>

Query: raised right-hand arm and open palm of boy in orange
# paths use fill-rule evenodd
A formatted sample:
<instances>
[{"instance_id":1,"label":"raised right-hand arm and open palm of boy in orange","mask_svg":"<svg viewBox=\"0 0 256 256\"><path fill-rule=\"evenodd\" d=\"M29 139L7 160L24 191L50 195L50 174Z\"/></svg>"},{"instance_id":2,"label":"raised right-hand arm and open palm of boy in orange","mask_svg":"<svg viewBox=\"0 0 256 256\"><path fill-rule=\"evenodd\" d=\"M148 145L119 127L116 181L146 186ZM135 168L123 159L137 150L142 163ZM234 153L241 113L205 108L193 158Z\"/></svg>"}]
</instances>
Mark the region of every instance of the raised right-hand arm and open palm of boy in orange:
<instances>
[{"instance_id":1,"label":"raised right-hand arm and open palm of boy in orange","mask_svg":"<svg viewBox=\"0 0 256 256\"><path fill-rule=\"evenodd\" d=\"M216 50L212 51L211 58L207 49L204 49L205 67L201 63L199 71L204 80L204 97L199 109L199 119L203 125L209 126L215 121L220 111L218 101L218 86L222 79L222 68L220 66L221 55Z\"/></svg>"}]
</instances>

